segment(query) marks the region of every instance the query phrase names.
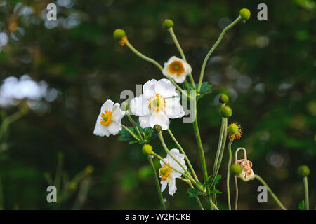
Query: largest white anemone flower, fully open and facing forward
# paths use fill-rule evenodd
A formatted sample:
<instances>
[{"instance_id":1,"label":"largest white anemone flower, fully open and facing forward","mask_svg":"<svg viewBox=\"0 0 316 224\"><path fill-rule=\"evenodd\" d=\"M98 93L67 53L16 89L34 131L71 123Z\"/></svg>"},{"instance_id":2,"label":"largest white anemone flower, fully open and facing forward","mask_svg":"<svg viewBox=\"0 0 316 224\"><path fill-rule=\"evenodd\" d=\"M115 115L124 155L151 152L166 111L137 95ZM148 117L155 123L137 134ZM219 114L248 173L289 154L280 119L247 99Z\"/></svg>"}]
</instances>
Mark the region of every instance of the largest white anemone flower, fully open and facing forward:
<instances>
[{"instance_id":1,"label":"largest white anemone flower, fully open and facing forward","mask_svg":"<svg viewBox=\"0 0 316 224\"><path fill-rule=\"evenodd\" d=\"M185 115L180 104L180 96L170 80L149 80L143 85L143 94L131 100L131 113L139 116L140 127L160 125L162 130L169 127L169 118Z\"/></svg>"}]
</instances>

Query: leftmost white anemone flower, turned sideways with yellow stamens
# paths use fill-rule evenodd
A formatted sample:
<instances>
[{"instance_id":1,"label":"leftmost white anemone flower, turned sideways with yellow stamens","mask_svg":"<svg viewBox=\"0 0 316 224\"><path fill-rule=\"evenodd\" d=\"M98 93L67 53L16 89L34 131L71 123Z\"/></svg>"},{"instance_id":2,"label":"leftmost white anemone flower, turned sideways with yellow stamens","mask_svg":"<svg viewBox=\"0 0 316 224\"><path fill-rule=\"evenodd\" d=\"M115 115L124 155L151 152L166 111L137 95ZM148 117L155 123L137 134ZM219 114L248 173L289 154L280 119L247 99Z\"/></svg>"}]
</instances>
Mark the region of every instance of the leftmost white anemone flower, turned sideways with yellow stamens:
<instances>
[{"instance_id":1,"label":"leftmost white anemone flower, turned sideways with yellow stamens","mask_svg":"<svg viewBox=\"0 0 316 224\"><path fill-rule=\"evenodd\" d=\"M120 109L118 103L114 104L112 100L107 101L102 105L100 114L96 120L93 134L100 137L105 135L109 137L110 134L117 134L121 130L121 118L125 112Z\"/></svg>"}]
</instances>

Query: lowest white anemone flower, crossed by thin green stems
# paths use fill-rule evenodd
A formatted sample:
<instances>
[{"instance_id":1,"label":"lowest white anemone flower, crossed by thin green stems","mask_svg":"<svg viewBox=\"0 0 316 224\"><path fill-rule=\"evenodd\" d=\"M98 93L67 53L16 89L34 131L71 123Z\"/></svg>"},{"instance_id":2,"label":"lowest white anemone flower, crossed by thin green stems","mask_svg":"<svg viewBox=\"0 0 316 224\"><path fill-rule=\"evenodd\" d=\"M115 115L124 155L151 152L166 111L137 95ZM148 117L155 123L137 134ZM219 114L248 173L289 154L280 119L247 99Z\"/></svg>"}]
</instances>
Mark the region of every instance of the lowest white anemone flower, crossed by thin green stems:
<instances>
[{"instance_id":1,"label":"lowest white anemone flower, crossed by thin green stems","mask_svg":"<svg viewBox=\"0 0 316 224\"><path fill-rule=\"evenodd\" d=\"M178 160L185 169L187 166L185 165L185 155L180 154L178 149L173 148L171 149L170 153ZM174 193L176 193L177 187L176 187L176 178L179 178L182 174L178 172L185 172L183 168L176 162L176 160L173 160L171 156L168 154L167 157L164 159L165 162L168 164L166 165L162 160L160 160L160 165L162 165L162 168L159 169L159 177L161 179L160 183L162 184L162 192L164 189L166 189L166 186L168 184L169 186L169 195L173 196ZM174 169L176 169L178 172L176 172Z\"/></svg>"}]
</instances>

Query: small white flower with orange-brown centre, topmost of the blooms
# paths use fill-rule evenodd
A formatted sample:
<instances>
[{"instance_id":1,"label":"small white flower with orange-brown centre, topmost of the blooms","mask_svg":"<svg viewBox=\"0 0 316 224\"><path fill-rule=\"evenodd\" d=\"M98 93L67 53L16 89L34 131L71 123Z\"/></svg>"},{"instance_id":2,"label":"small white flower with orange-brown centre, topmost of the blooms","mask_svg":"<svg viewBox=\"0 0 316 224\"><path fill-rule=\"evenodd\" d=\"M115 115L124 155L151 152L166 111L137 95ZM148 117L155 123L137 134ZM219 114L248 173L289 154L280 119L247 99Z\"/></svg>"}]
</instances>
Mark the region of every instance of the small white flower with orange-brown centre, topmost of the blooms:
<instances>
[{"instance_id":1,"label":"small white flower with orange-brown centre, topmost of the blooms","mask_svg":"<svg viewBox=\"0 0 316 224\"><path fill-rule=\"evenodd\" d=\"M164 76L172 78L176 83L183 83L187 75L191 72L192 68L190 64L175 56L164 63L164 69L162 70Z\"/></svg>"}]
</instances>

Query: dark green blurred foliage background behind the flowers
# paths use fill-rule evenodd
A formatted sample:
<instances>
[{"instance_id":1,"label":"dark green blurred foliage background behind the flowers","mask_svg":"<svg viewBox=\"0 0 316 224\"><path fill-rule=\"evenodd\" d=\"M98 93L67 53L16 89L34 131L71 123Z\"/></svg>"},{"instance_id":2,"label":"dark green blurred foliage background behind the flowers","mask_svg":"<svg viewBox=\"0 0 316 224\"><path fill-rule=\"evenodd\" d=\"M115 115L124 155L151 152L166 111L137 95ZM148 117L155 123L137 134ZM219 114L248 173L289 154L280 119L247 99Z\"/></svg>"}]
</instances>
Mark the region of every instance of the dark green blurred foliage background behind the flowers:
<instances>
[{"instance_id":1,"label":"dark green blurred foliage background behind the flowers","mask_svg":"<svg viewBox=\"0 0 316 224\"><path fill-rule=\"evenodd\" d=\"M112 32L125 29L136 49L162 64L178 55L161 27L164 19L172 19L197 82L206 52L240 8L249 8L251 19L230 29L213 52L204 76L213 92L198 105L209 171L220 130L218 97L225 93L232 99L229 122L244 128L233 151L239 146L247 149L254 172L289 209L298 209L303 200L296 169L308 165L310 207L315 207L315 1L58 0L57 22L46 21L48 3L52 2L0 1L1 80L27 73L58 90L53 101L44 99L6 130L0 153L2 208L159 209L140 145L118 141L118 136L93 136L106 99L122 102L122 90L135 92L136 84L162 78L156 67L113 41ZM268 21L257 20L258 3L268 5ZM1 111L13 114L18 107ZM127 118L123 122L131 125ZM171 130L202 179L192 125L177 119ZM176 148L169 137L165 139L170 148ZM164 157L159 140L151 143ZM87 165L94 167L82 204L76 197L61 204L46 202L44 176L55 174L58 152L64 155L63 170L69 176ZM226 153L224 157L220 174L225 174ZM154 162L158 168L159 162ZM270 197L269 203L257 202L259 185L257 181L239 183L240 209L277 209ZM195 199L187 197L185 183L177 181L177 187L174 197L164 192L167 207L197 209ZM217 188L225 192L225 181ZM218 195L218 202L221 209L226 208L225 194Z\"/></svg>"}]
</instances>

